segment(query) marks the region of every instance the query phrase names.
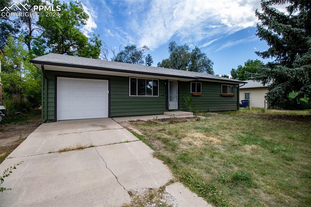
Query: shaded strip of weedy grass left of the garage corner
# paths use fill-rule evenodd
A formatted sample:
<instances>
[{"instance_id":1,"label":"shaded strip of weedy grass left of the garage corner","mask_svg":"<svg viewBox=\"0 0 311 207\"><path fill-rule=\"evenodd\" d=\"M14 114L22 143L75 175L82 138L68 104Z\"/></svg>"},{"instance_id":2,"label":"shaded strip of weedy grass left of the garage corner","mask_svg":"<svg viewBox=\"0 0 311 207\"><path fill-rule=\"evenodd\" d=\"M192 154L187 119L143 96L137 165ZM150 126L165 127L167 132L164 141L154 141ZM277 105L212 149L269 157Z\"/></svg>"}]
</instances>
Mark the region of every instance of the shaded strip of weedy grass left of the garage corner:
<instances>
[{"instance_id":1,"label":"shaded strip of weedy grass left of the garage corner","mask_svg":"<svg viewBox=\"0 0 311 207\"><path fill-rule=\"evenodd\" d=\"M2 124L20 124L26 125L30 122L34 122L34 120L40 120L41 110L34 110L29 113L23 113L16 116L4 117Z\"/></svg>"}]
</instances>

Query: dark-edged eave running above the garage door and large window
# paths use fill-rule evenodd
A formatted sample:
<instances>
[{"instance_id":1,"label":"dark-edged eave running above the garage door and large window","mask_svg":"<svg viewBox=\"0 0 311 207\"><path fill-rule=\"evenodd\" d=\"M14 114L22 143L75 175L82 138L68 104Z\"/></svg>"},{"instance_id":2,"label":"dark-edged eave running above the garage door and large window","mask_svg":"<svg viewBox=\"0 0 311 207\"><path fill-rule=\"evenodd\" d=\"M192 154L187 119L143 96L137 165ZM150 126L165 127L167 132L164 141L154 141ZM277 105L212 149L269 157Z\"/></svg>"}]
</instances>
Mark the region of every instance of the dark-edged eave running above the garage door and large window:
<instances>
[{"instance_id":1,"label":"dark-edged eave running above the garage door and large window","mask_svg":"<svg viewBox=\"0 0 311 207\"><path fill-rule=\"evenodd\" d=\"M122 69L114 69L114 68L106 68L106 67L94 67L94 66L85 66L85 65L76 65L76 64L67 64L62 62L49 62L49 61L40 61L40 60L30 60L29 62L33 64L44 64L44 65L55 65L55 66L63 66L63 67L74 67L74 68L86 68L86 69L93 69L93 70L102 70L102 71L114 71L114 72L125 72L125 73L132 73L132 74L143 74L143 75L155 75L155 76L162 76L162 77L176 77L176 78L185 78L185 79L200 79L197 77L190 77L190 76L174 76L169 74L159 74L159 73L150 73L150 72L142 72L142 71L129 71L129 70L122 70Z\"/></svg>"}]
</instances>

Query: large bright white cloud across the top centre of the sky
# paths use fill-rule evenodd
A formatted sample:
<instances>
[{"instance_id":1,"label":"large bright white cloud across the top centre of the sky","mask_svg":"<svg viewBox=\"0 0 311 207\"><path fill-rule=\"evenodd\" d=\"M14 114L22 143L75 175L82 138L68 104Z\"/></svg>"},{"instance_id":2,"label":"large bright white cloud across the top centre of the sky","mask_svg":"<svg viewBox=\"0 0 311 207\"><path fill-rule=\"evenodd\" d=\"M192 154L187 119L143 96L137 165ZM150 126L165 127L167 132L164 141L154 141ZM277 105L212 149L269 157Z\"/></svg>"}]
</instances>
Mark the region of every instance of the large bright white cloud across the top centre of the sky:
<instances>
[{"instance_id":1,"label":"large bright white cloud across the top centre of the sky","mask_svg":"<svg viewBox=\"0 0 311 207\"><path fill-rule=\"evenodd\" d=\"M153 0L149 6L144 14L138 11L140 15L132 20L131 28L139 46L155 49L174 35L191 44L254 26L258 21L254 12L260 8L260 1Z\"/></svg>"}]
</instances>

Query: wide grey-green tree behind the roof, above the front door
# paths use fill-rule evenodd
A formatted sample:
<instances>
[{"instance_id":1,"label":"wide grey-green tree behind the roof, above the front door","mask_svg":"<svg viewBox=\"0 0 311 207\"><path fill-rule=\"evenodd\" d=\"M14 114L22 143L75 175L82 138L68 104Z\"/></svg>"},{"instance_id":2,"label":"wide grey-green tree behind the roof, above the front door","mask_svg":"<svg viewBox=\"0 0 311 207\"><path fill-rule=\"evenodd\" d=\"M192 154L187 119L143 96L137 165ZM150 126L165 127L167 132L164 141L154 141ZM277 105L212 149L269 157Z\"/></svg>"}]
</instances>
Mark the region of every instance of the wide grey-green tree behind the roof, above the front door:
<instances>
[{"instance_id":1,"label":"wide grey-green tree behind the roof, above the front door","mask_svg":"<svg viewBox=\"0 0 311 207\"><path fill-rule=\"evenodd\" d=\"M192 50L188 45L178 45L175 41L169 43L169 58L158 63L158 67L172 68L176 70L202 72L214 74L213 62L200 48L194 47Z\"/></svg>"}]
</instances>

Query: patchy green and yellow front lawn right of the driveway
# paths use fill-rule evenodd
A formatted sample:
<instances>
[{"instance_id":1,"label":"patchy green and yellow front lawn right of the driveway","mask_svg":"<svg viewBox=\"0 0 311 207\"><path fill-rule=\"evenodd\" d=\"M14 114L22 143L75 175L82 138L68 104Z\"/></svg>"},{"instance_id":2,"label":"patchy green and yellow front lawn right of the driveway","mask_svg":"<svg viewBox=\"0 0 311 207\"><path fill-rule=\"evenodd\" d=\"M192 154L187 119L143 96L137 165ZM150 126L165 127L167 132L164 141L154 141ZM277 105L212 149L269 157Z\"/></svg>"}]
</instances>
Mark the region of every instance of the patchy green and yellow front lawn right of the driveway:
<instances>
[{"instance_id":1,"label":"patchy green and yellow front lawn right of the driveway","mask_svg":"<svg viewBox=\"0 0 311 207\"><path fill-rule=\"evenodd\" d=\"M311 122L240 115L132 124L174 176L209 203L310 206Z\"/></svg>"}]
</instances>

